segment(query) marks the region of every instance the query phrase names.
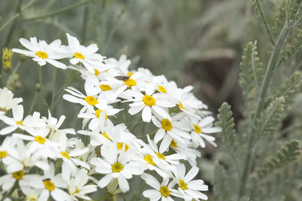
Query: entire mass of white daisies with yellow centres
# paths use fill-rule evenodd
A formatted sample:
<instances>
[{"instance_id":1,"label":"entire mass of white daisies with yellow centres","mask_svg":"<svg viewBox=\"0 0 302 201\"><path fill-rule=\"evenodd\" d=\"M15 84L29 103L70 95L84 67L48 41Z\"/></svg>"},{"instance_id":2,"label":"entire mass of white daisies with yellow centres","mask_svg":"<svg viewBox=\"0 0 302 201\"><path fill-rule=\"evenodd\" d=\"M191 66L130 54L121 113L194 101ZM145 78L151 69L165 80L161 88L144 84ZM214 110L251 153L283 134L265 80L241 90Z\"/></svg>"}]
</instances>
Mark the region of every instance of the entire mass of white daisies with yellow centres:
<instances>
[{"instance_id":1,"label":"entire mass of white daisies with yellow centres","mask_svg":"<svg viewBox=\"0 0 302 201\"><path fill-rule=\"evenodd\" d=\"M78 114L82 130L60 129L65 116L57 120L50 111L48 118L37 112L24 118L22 98L14 98L7 88L0 89L0 120L8 125L0 135L12 133L0 147L6 172L0 177L0 194L8 197L19 187L28 200L47 200L49 196L90 200L98 187L106 188L106 196L129 191L128 179L140 175L154 188L142 193L150 200L207 199L200 191L208 186L200 179L192 180L199 170L197 148L204 148L205 141L216 146L215 138L207 134L221 129L213 127L214 118L203 111L207 107L193 95L193 87L179 88L148 69L129 71L131 61L125 55L119 60L106 58L96 53L96 44L86 47L66 35L68 46L60 40L47 44L36 38L20 39L28 50L13 52L33 57L41 66L49 63L81 73L85 91L68 86L63 98L83 106ZM70 65L62 63L63 58ZM123 110L126 118L121 115ZM132 126L129 115L137 117ZM114 124L122 119L125 124ZM135 126L146 123L157 129L142 135L131 133ZM74 137L76 133L87 141ZM187 174L185 161L192 166ZM87 184L89 180L96 185Z\"/></svg>"}]
</instances>

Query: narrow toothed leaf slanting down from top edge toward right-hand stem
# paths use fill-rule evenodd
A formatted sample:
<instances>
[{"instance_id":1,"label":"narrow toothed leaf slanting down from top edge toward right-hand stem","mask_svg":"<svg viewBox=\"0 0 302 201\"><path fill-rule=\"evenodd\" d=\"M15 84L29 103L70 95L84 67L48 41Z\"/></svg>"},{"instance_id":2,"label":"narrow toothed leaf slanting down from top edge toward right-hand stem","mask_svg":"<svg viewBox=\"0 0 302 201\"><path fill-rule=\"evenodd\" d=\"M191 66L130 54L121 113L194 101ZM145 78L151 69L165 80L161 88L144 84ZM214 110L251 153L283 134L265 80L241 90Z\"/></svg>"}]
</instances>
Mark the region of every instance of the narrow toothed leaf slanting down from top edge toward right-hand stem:
<instances>
[{"instance_id":1,"label":"narrow toothed leaf slanting down from top edge toward right-hand stem","mask_svg":"<svg viewBox=\"0 0 302 201\"><path fill-rule=\"evenodd\" d=\"M269 29L269 26L266 22L266 19L265 19L265 16L264 16L264 13L262 11L262 8L261 8L261 5L260 5L260 2L259 0L253 0L253 7L254 7L254 11L255 11L255 14L256 14L256 17L261 25L261 28L263 29L266 37L268 38L268 40L271 42L271 44L273 46L275 46L275 40L274 40L274 37Z\"/></svg>"}]
</instances>

